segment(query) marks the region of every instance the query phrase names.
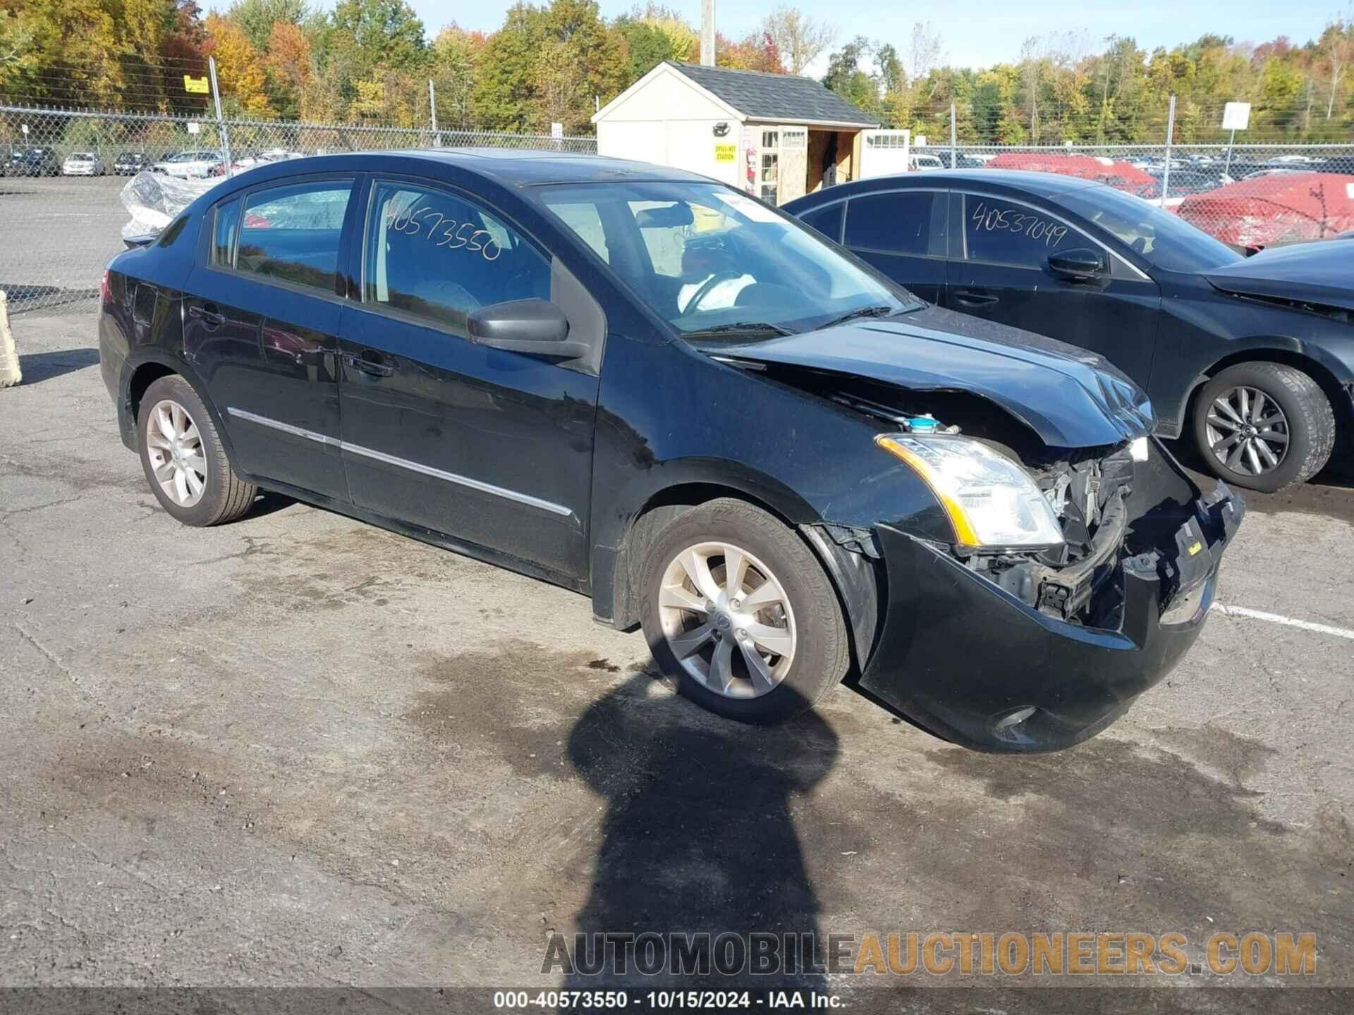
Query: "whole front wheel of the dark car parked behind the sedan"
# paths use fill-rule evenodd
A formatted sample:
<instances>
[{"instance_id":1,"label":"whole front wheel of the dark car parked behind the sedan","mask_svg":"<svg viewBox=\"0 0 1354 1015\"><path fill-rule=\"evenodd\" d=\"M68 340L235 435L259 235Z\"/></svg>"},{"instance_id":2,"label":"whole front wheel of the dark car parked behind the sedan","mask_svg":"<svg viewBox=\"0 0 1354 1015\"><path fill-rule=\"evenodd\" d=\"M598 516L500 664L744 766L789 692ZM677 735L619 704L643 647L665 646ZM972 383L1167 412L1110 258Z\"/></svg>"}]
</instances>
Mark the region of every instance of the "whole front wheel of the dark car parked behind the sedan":
<instances>
[{"instance_id":1,"label":"whole front wheel of the dark car parked behind the sedan","mask_svg":"<svg viewBox=\"0 0 1354 1015\"><path fill-rule=\"evenodd\" d=\"M1322 471L1335 448L1335 413L1303 371L1239 363L1200 391L1194 441L1215 475L1274 493Z\"/></svg>"}]
</instances>

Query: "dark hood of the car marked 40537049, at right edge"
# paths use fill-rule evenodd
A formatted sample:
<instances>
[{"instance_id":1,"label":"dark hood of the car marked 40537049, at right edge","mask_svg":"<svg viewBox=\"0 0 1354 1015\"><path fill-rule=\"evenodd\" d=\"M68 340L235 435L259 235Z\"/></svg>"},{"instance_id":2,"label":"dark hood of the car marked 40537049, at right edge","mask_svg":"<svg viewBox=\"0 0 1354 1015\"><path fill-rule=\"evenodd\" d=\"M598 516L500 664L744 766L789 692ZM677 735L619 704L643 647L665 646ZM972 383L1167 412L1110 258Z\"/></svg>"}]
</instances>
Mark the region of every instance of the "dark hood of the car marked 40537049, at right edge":
<instances>
[{"instance_id":1,"label":"dark hood of the car marked 40537049, at right edge","mask_svg":"<svg viewBox=\"0 0 1354 1015\"><path fill-rule=\"evenodd\" d=\"M1224 292L1354 310L1354 244L1320 240L1277 246L1204 277Z\"/></svg>"}]
</instances>

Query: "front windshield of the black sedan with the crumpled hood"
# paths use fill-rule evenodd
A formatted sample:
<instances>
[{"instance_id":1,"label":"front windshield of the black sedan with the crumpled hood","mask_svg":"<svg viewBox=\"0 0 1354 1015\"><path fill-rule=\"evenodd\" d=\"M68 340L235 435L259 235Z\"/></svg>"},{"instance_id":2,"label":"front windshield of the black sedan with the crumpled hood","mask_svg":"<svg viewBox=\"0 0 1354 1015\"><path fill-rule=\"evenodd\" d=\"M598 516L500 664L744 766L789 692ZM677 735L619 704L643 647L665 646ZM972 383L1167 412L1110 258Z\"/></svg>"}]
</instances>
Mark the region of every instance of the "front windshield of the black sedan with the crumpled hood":
<instances>
[{"instance_id":1,"label":"front windshield of the black sedan with the crumpled hood","mask_svg":"<svg viewBox=\"0 0 1354 1015\"><path fill-rule=\"evenodd\" d=\"M793 218L716 183L555 184L538 196L686 334L770 337L923 306Z\"/></svg>"}]
</instances>

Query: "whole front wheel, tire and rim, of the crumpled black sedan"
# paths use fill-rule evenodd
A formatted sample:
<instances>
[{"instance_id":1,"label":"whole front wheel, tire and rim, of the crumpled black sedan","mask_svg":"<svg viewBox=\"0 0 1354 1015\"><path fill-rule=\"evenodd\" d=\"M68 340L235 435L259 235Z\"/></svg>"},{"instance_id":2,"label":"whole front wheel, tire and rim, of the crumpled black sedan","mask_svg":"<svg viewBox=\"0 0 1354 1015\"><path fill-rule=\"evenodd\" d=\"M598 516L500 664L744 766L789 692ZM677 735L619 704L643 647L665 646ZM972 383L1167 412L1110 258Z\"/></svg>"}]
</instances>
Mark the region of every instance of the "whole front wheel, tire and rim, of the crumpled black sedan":
<instances>
[{"instance_id":1,"label":"whole front wheel, tire and rim, of the crumpled black sedan","mask_svg":"<svg viewBox=\"0 0 1354 1015\"><path fill-rule=\"evenodd\" d=\"M640 563L640 623L681 693L743 723L812 708L850 662L846 623L808 545L722 498L659 531Z\"/></svg>"}]
</instances>

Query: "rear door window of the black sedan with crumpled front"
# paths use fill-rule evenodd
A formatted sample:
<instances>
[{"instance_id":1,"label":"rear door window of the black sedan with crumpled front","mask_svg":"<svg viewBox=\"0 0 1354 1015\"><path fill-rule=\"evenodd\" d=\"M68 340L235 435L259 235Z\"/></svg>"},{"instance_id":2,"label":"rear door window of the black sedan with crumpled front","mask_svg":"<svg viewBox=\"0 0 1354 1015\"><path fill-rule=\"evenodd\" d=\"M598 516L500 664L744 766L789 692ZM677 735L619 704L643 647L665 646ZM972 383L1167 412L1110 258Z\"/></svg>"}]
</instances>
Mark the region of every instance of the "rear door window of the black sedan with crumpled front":
<instances>
[{"instance_id":1,"label":"rear door window of the black sedan with crumpled front","mask_svg":"<svg viewBox=\"0 0 1354 1015\"><path fill-rule=\"evenodd\" d=\"M245 200L236 271L334 291L351 180L271 187Z\"/></svg>"}]
</instances>

